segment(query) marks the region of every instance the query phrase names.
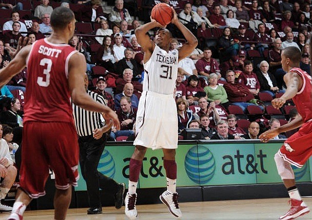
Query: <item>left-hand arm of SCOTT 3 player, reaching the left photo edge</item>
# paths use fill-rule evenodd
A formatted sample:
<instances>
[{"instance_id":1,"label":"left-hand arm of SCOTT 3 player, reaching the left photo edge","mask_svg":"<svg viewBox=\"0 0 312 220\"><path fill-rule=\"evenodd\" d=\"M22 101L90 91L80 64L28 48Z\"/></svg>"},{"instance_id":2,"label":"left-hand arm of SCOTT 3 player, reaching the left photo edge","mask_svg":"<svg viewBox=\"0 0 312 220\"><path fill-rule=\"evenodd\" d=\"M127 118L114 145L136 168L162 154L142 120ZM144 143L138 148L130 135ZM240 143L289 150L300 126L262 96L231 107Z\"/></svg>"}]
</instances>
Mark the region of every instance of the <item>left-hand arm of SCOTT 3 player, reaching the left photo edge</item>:
<instances>
[{"instance_id":1,"label":"left-hand arm of SCOTT 3 player, reaching the left photo edge","mask_svg":"<svg viewBox=\"0 0 312 220\"><path fill-rule=\"evenodd\" d=\"M0 70L0 88L6 85L13 76L18 74L26 66L26 58L31 46L22 48L9 64Z\"/></svg>"}]
</instances>

